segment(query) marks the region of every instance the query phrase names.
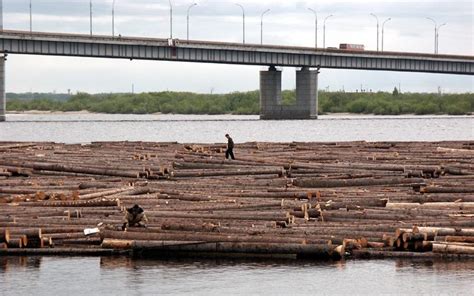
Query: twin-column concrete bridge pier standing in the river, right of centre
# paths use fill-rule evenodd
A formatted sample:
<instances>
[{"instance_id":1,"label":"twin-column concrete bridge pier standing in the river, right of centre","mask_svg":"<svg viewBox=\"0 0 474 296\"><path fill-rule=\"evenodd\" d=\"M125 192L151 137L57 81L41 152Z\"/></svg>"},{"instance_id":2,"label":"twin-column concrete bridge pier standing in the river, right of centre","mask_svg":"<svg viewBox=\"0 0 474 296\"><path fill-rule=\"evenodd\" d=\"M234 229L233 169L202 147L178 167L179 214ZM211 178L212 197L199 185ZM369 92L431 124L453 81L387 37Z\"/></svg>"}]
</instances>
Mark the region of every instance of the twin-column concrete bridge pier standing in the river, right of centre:
<instances>
[{"instance_id":1,"label":"twin-column concrete bridge pier standing in the river, right of centre","mask_svg":"<svg viewBox=\"0 0 474 296\"><path fill-rule=\"evenodd\" d=\"M296 104L282 105L281 71L271 66L260 72L260 119L317 119L318 70L296 71Z\"/></svg>"}]
</instances>

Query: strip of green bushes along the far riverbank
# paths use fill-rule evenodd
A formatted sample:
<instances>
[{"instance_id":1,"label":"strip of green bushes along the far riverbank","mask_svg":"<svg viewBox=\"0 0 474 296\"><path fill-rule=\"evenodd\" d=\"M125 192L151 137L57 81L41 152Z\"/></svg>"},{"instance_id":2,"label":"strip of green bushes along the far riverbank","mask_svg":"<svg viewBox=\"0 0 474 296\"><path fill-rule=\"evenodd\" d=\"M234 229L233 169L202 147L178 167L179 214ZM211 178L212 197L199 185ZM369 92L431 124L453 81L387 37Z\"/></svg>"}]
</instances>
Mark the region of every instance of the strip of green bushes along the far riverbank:
<instances>
[{"instance_id":1,"label":"strip of green bushes along the far riverbank","mask_svg":"<svg viewBox=\"0 0 474 296\"><path fill-rule=\"evenodd\" d=\"M78 93L59 101L43 94L36 99L9 99L8 111L90 111L117 114L259 114L259 92L194 94L157 92L141 94ZM282 93L284 105L295 103L294 91ZM320 113L360 113L377 115L474 113L474 94L324 92L319 94Z\"/></svg>"}]
</instances>

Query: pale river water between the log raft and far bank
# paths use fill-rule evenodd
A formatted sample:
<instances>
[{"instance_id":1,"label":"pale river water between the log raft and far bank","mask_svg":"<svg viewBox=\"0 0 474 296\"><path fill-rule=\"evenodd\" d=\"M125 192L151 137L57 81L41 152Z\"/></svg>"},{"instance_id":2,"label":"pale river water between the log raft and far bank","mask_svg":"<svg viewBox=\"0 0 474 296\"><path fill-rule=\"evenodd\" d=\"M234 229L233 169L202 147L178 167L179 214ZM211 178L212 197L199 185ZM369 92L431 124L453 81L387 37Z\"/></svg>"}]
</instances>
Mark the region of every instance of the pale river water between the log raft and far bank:
<instances>
[{"instance_id":1,"label":"pale river water between the log raft and far bank","mask_svg":"<svg viewBox=\"0 0 474 296\"><path fill-rule=\"evenodd\" d=\"M473 116L321 116L261 121L258 116L9 114L0 141L235 142L473 140Z\"/></svg>"}]
</instances>

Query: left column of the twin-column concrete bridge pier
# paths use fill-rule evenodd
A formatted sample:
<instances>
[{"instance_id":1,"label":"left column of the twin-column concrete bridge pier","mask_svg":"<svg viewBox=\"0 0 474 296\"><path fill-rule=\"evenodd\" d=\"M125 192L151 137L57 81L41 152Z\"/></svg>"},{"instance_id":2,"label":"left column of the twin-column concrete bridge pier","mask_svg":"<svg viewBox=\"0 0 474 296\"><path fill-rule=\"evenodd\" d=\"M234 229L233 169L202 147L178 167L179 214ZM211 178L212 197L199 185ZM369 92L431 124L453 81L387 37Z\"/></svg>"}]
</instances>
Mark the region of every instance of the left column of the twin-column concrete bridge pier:
<instances>
[{"instance_id":1,"label":"left column of the twin-column concrete bridge pier","mask_svg":"<svg viewBox=\"0 0 474 296\"><path fill-rule=\"evenodd\" d=\"M281 113L281 71L271 66L260 71L260 119L279 119Z\"/></svg>"}]
</instances>

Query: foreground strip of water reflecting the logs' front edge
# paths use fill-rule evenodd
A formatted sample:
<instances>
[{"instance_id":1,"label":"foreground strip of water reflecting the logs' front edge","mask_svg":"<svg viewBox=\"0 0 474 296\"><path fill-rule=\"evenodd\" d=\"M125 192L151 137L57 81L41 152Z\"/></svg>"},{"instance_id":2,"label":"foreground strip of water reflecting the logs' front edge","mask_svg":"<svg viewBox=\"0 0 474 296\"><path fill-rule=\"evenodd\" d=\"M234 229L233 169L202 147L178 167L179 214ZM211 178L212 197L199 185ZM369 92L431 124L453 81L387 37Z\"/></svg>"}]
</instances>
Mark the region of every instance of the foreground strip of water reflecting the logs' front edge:
<instances>
[{"instance_id":1,"label":"foreground strip of water reflecting the logs' front edge","mask_svg":"<svg viewBox=\"0 0 474 296\"><path fill-rule=\"evenodd\" d=\"M5 295L471 295L474 261L3 257ZM2 294L3 295L3 294Z\"/></svg>"}]
</instances>

